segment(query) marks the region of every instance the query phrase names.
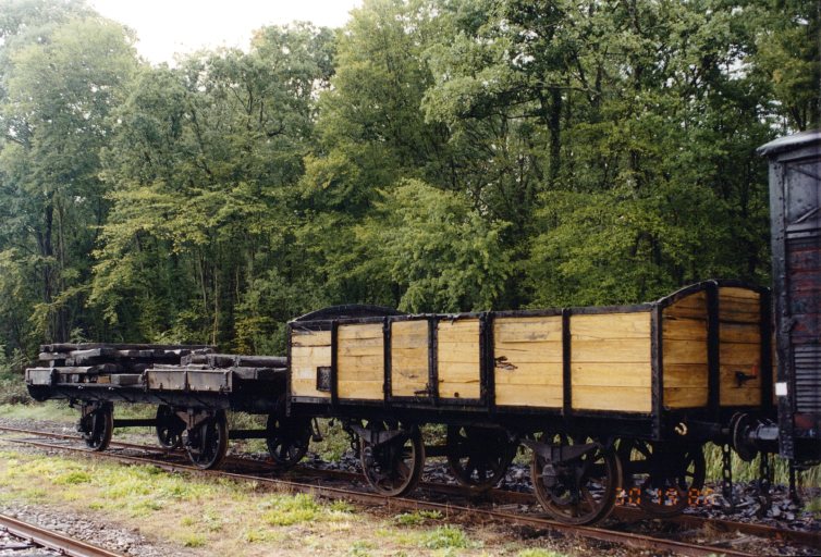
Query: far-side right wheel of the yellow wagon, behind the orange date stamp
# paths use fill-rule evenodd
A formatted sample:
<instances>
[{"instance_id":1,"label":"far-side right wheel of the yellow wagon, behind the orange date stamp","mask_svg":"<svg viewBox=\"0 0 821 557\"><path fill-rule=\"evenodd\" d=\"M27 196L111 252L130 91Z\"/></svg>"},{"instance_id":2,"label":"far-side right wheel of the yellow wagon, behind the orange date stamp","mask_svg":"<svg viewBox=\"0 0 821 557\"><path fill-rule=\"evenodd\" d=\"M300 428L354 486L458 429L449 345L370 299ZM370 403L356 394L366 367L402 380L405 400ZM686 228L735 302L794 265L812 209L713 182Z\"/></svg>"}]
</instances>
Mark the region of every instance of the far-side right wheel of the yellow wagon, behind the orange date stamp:
<instances>
[{"instance_id":1,"label":"far-side right wheel of the yellow wagon, behind the orange date stamp","mask_svg":"<svg viewBox=\"0 0 821 557\"><path fill-rule=\"evenodd\" d=\"M691 490L704 486L700 445L674 447L642 440L621 440L617 449L625 490L639 490L638 505L648 515L672 517L689 504Z\"/></svg>"}]
</instances>

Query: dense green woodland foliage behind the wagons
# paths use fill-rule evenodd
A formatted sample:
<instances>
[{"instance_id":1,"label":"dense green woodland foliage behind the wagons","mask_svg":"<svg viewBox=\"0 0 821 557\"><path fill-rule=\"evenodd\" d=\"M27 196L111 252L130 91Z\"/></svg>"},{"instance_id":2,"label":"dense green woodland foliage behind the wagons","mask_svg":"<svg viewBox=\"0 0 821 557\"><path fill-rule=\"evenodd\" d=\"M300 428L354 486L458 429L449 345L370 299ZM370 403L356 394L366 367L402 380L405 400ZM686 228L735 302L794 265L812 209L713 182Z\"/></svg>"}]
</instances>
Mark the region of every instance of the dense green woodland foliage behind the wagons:
<instances>
[{"instance_id":1,"label":"dense green woodland foliage behind the wagons","mask_svg":"<svg viewBox=\"0 0 821 557\"><path fill-rule=\"evenodd\" d=\"M0 344L281 352L327 305L466 311L765 284L765 164L819 125L809 0L366 0L149 66L0 0Z\"/></svg>"}]
</instances>

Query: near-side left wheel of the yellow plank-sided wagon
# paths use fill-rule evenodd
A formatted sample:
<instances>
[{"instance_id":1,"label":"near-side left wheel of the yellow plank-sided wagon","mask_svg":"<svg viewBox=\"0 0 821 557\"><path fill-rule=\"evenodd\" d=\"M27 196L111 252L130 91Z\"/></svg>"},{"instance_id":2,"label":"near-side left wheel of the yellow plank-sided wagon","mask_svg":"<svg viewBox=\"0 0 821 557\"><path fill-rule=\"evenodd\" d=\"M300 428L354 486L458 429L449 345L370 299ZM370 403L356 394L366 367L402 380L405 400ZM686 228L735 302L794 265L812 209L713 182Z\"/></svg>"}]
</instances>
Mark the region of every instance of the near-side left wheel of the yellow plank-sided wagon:
<instances>
[{"instance_id":1,"label":"near-side left wheel of the yellow plank-sided wagon","mask_svg":"<svg viewBox=\"0 0 821 557\"><path fill-rule=\"evenodd\" d=\"M387 431L389 424L382 421L368 423L373 432ZM378 493L388 496L404 495L419 483L425 466L425 445L419 430L404 430L395 438L379 445L371 445L360 438L362 466L365 479Z\"/></svg>"}]
</instances>

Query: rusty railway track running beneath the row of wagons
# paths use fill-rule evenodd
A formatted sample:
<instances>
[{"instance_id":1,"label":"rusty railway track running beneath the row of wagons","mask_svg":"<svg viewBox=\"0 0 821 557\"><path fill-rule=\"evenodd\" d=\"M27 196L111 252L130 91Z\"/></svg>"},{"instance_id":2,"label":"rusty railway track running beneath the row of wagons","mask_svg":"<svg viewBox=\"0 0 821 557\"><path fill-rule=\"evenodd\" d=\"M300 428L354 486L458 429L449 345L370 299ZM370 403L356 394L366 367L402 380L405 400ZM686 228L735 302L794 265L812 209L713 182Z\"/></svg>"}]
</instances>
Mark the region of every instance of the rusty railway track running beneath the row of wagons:
<instances>
[{"instance_id":1,"label":"rusty railway track running beneath the row of wagons","mask_svg":"<svg viewBox=\"0 0 821 557\"><path fill-rule=\"evenodd\" d=\"M426 483L419 486L421 493L439 494L440 496L464 498L464 505L455 505L451 502L441 503L436 500L426 500L422 498L409 497L384 497L382 495L357 491L352 488L336 487L327 485L327 483L360 483L362 476L351 472L319 470L319 469L299 469L289 472L291 479L271 478L272 470L270 466L258 460L252 460L241 457L229 457L225 460L226 467L232 467L238 471L222 470L201 470L186 463L184 454L181 450L168 450L157 446L137 445L132 443L112 442L111 448L121 449L120 453L93 453L85 446L79 446L82 440L76 435L66 435L58 433L41 432L37 430L26 430L17 428L0 426L0 432L17 433L28 435L23 438L9 438L7 441L24 444L40 448L57 449L81 454L94 458L101 457L109 460L125 463L150 463L170 472L185 472L201 474L207 476L221 476L237 481L254 481L269 485L273 488L289 491L292 493L310 493L329 499L345 499L360 503L368 506L384 507L391 510L436 510L443 516L465 516L477 521L497 521L518 527L527 527L537 530L547 530L560 532L566 536L584 537L598 542L618 544L627 547L639 549L650 549L654 552L670 552L681 555L709 556L725 555L727 557L744 557L757 555L745 553L732 547L731 542L718 542L714 544L687 543L683 541L663 539L642 533L633 533L612 528L599 527L574 527L548 520L535 513L511 513L498 509L488 509L479 506L473 506L473 500L477 499L477 493L457 485ZM42 438L52 440L51 442L41 441ZM65 443L54 443L54 441ZM76 443L74 443L76 442ZM68 444L72 443L72 444ZM131 450L142 454L126 454L124 450ZM295 479L298 478L298 481ZM326 484L323 484L324 482ZM536 498L526 493L510 492L505 490L491 490L479 495L479 498L487 505L488 502L510 506L530 506L536 508ZM621 507L616 509L616 518L620 520L616 528L622 527L625 522L637 522L648 517L639 509ZM737 532L745 536L755 536L767 540L789 541L811 548L821 549L821 533L804 532L796 530L777 529L762 524L751 524L746 522L734 522L730 520L716 520L697 517L693 515L682 515L665 522L676 523L687 529L687 531L697 531L710 529L713 532ZM730 544L730 546L727 546Z\"/></svg>"}]
</instances>

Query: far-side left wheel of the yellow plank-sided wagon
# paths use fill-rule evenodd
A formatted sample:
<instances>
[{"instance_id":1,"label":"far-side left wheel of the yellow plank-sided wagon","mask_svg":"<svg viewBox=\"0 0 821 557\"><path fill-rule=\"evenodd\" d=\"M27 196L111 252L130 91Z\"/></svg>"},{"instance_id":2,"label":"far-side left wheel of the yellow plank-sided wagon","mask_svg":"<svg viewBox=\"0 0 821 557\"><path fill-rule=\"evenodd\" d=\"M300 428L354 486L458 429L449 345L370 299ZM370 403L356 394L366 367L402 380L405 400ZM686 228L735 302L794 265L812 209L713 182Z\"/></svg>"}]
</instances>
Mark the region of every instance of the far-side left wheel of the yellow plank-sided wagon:
<instances>
[{"instance_id":1,"label":"far-side left wheel of the yellow plank-sided wagon","mask_svg":"<svg viewBox=\"0 0 821 557\"><path fill-rule=\"evenodd\" d=\"M446 450L456 481L477 490L499 483L516 456L516 445L504 430L476 425L449 425Z\"/></svg>"}]
</instances>

